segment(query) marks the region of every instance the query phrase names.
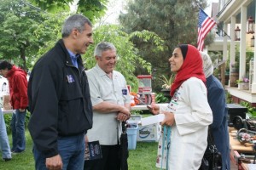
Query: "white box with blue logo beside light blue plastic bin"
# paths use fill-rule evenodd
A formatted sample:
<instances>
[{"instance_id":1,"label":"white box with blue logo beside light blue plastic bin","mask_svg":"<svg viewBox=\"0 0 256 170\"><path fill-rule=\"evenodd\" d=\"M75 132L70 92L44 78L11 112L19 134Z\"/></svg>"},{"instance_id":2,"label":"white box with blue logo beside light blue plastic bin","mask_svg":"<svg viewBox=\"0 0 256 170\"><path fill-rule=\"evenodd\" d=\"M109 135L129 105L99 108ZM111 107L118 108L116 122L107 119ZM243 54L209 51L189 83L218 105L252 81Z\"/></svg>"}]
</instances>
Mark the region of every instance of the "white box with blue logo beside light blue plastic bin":
<instances>
[{"instance_id":1,"label":"white box with blue logo beside light blue plastic bin","mask_svg":"<svg viewBox=\"0 0 256 170\"><path fill-rule=\"evenodd\" d=\"M137 141L158 142L160 139L160 123L154 123L147 126L138 126Z\"/></svg>"}]
</instances>

